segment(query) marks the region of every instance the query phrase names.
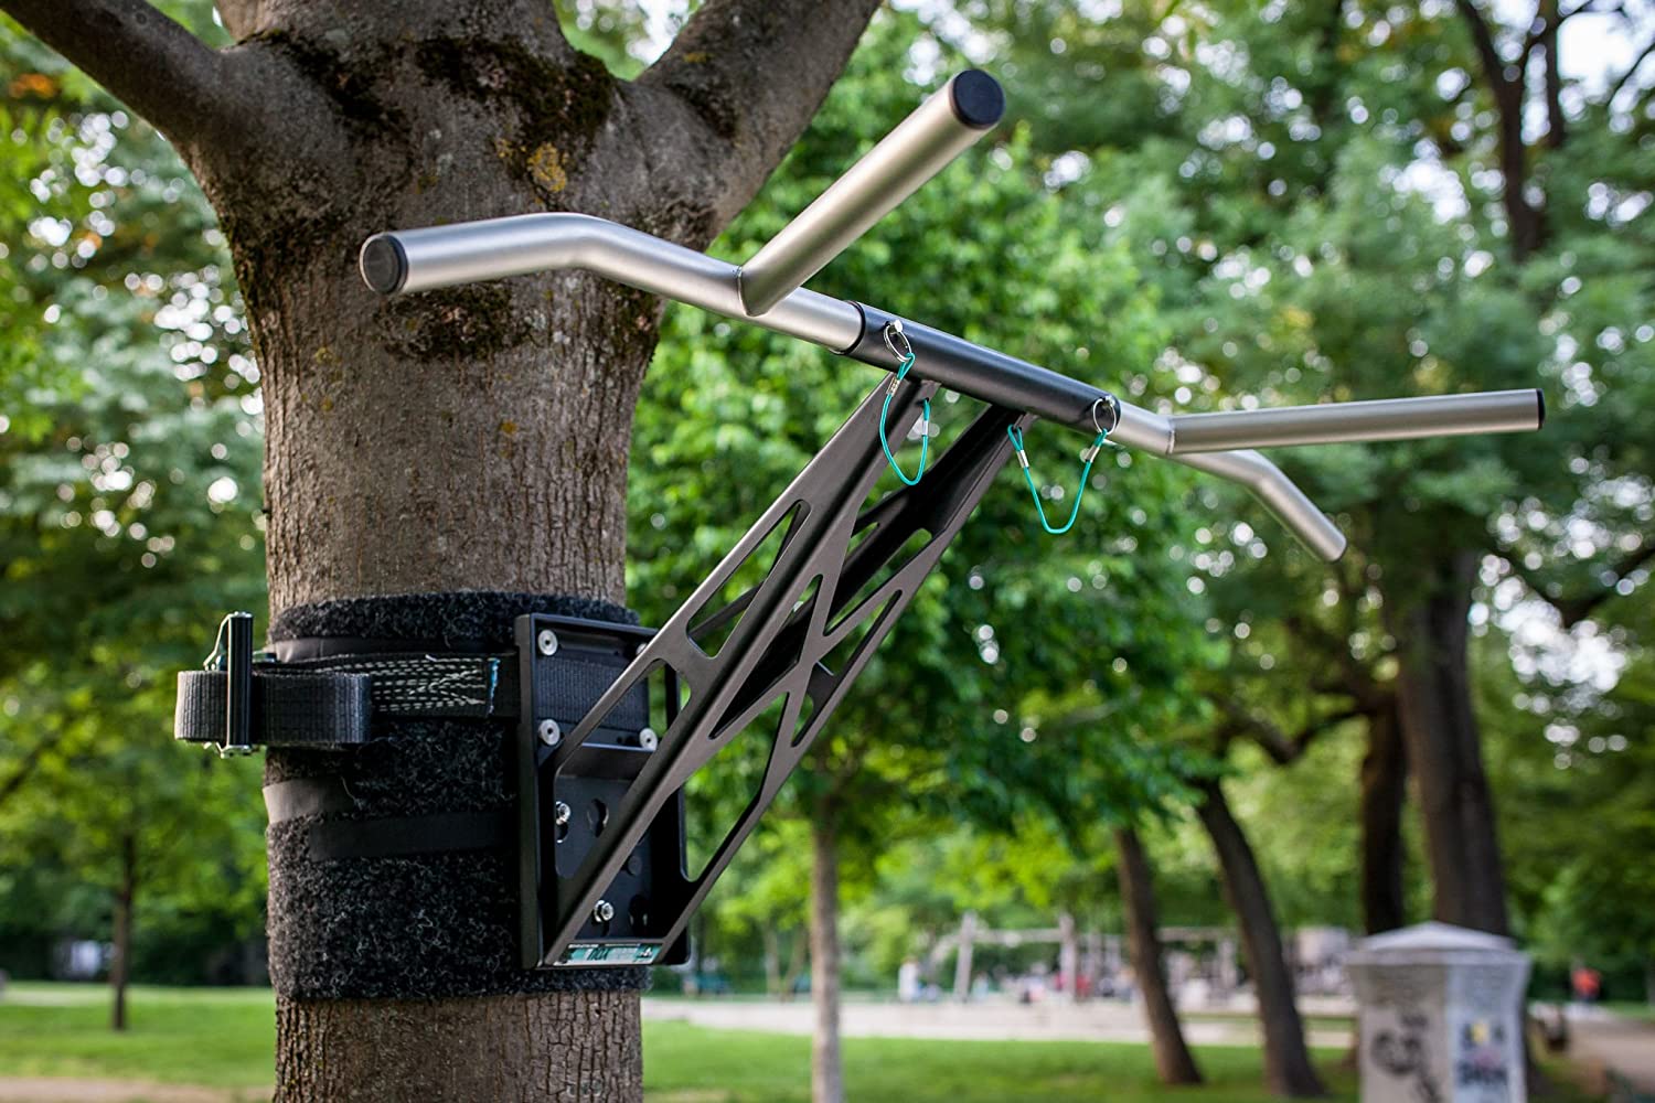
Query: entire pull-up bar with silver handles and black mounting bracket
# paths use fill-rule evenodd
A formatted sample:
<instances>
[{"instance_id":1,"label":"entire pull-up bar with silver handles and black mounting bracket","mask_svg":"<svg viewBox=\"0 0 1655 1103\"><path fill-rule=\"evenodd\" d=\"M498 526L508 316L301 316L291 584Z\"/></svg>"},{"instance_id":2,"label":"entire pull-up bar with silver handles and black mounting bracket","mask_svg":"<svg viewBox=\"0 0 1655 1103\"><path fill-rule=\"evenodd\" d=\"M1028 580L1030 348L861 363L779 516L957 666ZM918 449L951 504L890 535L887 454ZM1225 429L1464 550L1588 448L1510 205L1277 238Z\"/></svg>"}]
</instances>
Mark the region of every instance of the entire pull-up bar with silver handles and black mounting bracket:
<instances>
[{"instance_id":1,"label":"entire pull-up bar with silver handles and black mounting bracket","mask_svg":"<svg viewBox=\"0 0 1655 1103\"><path fill-rule=\"evenodd\" d=\"M556 718L546 728L533 693L540 678L525 681L530 690L518 709L515 749L526 967L632 964L675 953L670 948L679 946L713 880L1010 461L1008 440L1021 440L1034 418L1067 425L1094 442L1107 433L1117 445L1238 483L1329 561L1344 552L1344 534L1254 448L1539 428L1544 408L1533 390L1158 413L875 306L799 286L981 137L1001 107L991 78L962 73L740 268L573 213L399 230L362 245L362 278L382 294L583 270L895 372L889 387L882 384L862 400L660 632L627 647L626 670L573 729L564 733ZM899 326L902 342L892 339ZM942 450L923 485L904 480L869 504L885 473L892 435L900 440L900 427L928 408L938 387L980 399L986 408ZM781 544L763 580L722 602L725 587L778 531ZM922 542L912 551L915 537ZM535 652L540 628L535 617L520 620L520 668L540 663L536 653L556 653ZM728 638L710 645L725 628ZM655 671L669 678L665 729L649 729L647 741L639 731L636 744L611 746L606 733L626 728L627 701L647 700ZM674 708L679 685L688 700ZM780 711L780 719L763 781L705 870L695 878L675 873L672 838L682 842L682 835L672 828L682 815L675 802L685 782L727 739L770 711ZM617 772L611 759L621 752L632 766ZM569 794L589 792L589 782L604 785L612 824L591 840L568 842L556 815L568 812L563 802ZM634 870L629 863L644 853L674 870ZM629 926L612 926L616 886L636 888L640 878L652 886L634 901L654 903Z\"/></svg>"}]
</instances>

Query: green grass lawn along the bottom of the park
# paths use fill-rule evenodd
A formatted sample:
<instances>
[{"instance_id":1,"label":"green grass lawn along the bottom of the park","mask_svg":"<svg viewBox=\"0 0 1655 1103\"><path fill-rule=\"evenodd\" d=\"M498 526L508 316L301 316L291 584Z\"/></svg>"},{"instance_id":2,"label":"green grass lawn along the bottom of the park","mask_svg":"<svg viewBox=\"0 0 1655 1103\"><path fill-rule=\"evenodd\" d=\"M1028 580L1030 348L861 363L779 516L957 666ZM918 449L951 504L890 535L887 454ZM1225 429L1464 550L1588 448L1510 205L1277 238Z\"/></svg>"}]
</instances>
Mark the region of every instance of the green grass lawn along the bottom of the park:
<instances>
[{"instance_id":1,"label":"green grass lawn along the bottom of the park","mask_svg":"<svg viewBox=\"0 0 1655 1103\"><path fill-rule=\"evenodd\" d=\"M0 1077L78 1077L261 1090L270 1083L273 1015L268 991L136 987L131 1029L108 1027L99 986L18 982L0 999ZM1253 1103L1259 1055L1203 1048L1198 1090L1167 1090L1142 1045L1104 1042L925 1042L847 1039L846 1086L857 1101ZM1317 1060L1336 1100L1355 1100L1342 1053ZM644 1086L650 1103L808 1103L809 1039L644 1024ZM253 1098L252 1095L248 1098Z\"/></svg>"}]
</instances>

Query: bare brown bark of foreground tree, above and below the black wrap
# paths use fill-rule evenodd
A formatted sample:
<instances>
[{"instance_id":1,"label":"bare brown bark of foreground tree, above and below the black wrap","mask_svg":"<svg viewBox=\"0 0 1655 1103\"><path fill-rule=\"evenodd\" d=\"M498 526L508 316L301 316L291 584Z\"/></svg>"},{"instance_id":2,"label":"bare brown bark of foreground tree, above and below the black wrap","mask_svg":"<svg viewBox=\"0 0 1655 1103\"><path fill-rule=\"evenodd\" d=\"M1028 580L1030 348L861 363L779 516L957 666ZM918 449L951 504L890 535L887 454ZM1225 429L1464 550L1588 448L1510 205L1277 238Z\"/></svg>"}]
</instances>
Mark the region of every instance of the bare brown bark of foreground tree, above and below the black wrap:
<instances>
[{"instance_id":1,"label":"bare brown bark of foreground tree, above and below the black wrap","mask_svg":"<svg viewBox=\"0 0 1655 1103\"><path fill-rule=\"evenodd\" d=\"M660 304L583 275L381 299L357 248L535 210L702 248L877 0L708 0L631 83L544 0L222 0L222 51L142 0L0 7L161 127L218 213L263 374L280 614L450 590L624 600ZM276 1068L281 1100L637 1100L637 997L283 1000Z\"/></svg>"}]
</instances>

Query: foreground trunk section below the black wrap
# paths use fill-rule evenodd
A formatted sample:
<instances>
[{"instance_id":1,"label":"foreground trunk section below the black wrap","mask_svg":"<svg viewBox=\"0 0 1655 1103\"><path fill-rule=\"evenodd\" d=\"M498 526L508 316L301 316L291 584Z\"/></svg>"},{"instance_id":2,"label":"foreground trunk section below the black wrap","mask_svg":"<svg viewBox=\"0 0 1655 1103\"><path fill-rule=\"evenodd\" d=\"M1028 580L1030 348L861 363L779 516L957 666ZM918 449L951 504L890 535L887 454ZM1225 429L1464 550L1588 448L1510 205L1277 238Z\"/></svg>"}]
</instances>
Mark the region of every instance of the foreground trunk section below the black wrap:
<instances>
[{"instance_id":1,"label":"foreground trunk section below the black wrap","mask_svg":"<svg viewBox=\"0 0 1655 1103\"><path fill-rule=\"evenodd\" d=\"M637 1100L639 1030L637 992L285 1000L276 1100Z\"/></svg>"}]
</instances>

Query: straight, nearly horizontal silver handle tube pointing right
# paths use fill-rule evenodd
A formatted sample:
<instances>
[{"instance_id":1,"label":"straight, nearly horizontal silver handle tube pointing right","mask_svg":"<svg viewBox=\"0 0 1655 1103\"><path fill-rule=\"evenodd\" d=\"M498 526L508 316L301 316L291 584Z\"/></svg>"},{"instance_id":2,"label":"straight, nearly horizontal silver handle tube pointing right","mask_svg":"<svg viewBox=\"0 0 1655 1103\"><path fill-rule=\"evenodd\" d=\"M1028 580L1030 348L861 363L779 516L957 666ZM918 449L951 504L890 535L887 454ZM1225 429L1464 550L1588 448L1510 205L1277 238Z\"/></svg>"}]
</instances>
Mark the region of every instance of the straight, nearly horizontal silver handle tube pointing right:
<instances>
[{"instance_id":1,"label":"straight, nearly horizontal silver handle tube pointing right","mask_svg":"<svg viewBox=\"0 0 1655 1103\"><path fill-rule=\"evenodd\" d=\"M1546 420L1539 390L1493 390L1425 399L1329 402L1279 410L1180 413L1172 423L1173 456L1231 448L1283 448L1369 440L1417 440L1468 433L1524 433Z\"/></svg>"}]
</instances>

